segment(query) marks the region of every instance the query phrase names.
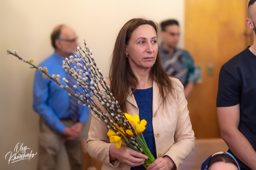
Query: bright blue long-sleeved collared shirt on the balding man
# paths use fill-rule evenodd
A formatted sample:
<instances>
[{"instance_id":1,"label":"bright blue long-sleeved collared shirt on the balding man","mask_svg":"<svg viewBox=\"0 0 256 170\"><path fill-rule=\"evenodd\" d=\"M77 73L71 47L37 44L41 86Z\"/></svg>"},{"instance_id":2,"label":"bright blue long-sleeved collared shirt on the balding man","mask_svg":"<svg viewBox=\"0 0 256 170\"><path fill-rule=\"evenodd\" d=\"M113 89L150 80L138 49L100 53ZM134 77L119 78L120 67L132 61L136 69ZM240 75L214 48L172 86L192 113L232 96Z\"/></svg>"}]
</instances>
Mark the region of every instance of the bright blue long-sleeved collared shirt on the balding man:
<instances>
[{"instance_id":1,"label":"bright blue long-sleeved collared shirt on the balding man","mask_svg":"<svg viewBox=\"0 0 256 170\"><path fill-rule=\"evenodd\" d=\"M46 66L48 73L60 74L61 79L67 78L65 69L62 68L63 57L54 52L51 56L39 64L38 67ZM66 85L62 80L62 85ZM68 92L61 89L59 85L48 78L43 77L41 71L36 70L33 89L33 110L43 118L49 127L58 133L65 130L65 125L61 123L61 118L70 118L70 96ZM79 122L86 123L90 109L79 104Z\"/></svg>"}]
</instances>

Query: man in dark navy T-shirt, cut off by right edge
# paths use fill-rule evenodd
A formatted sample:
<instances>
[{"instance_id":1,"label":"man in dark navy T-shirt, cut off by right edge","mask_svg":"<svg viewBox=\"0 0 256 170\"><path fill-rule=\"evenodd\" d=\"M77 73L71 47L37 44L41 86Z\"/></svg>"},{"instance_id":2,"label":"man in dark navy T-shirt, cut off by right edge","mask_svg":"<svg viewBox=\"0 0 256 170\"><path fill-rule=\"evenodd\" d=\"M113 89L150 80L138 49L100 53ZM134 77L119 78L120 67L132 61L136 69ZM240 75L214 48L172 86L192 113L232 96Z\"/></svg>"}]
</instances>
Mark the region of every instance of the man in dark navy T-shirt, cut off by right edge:
<instances>
[{"instance_id":1,"label":"man in dark navy T-shirt, cut off by right edge","mask_svg":"<svg viewBox=\"0 0 256 170\"><path fill-rule=\"evenodd\" d=\"M248 4L246 24L253 45L228 60L220 70L217 111L221 138L241 169L256 169L256 0Z\"/></svg>"}]
</instances>

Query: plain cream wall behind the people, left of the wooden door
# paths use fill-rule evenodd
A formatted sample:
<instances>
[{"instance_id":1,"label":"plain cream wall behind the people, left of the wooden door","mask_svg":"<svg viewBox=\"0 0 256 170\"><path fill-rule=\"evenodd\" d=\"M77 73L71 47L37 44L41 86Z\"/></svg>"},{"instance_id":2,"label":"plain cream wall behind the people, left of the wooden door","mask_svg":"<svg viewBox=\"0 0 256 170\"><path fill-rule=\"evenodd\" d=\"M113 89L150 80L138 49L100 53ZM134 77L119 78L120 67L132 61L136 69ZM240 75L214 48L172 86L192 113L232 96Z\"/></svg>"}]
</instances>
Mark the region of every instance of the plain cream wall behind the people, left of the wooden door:
<instances>
[{"instance_id":1,"label":"plain cream wall behind the people, left of the wooden door","mask_svg":"<svg viewBox=\"0 0 256 170\"><path fill-rule=\"evenodd\" d=\"M31 109L35 70L6 55L17 50L21 57L33 57L35 64L53 50L49 34L57 24L76 29L79 43L86 39L98 66L108 75L109 57L118 31L129 19L146 17L156 22L177 18L184 25L184 2L177 0L86 1L86 0L1 0L0 1L0 169L36 169L37 155L8 164L6 153L17 143L37 152L38 115ZM183 31L182 31L183 32ZM183 45L181 34L180 46ZM62 152L59 169L68 169Z\"/></svg>"}]
</instances>

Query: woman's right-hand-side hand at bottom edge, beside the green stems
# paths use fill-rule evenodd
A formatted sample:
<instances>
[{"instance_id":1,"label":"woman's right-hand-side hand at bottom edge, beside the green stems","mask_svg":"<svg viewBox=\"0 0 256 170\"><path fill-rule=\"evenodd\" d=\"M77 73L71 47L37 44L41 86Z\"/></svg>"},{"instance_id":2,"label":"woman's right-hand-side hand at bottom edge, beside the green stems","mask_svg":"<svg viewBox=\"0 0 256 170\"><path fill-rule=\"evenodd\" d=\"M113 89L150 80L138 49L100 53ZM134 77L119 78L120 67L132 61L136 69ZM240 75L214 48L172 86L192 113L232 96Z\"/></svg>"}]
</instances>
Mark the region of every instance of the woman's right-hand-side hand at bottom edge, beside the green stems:
<instances>
[{"instance_id":1,"label":"woman's right-hand-side hand at bottom edge, beside the green stems","mask_svg":"<svg viewBox=\"0 0 256 170\"><path fill-rule=\"evenodd\" d=\"M157 158L150 166L147 167L147 170L170 170L176 167L173 160L168 157L159 157Z\"/></svg>"}]
</instances>

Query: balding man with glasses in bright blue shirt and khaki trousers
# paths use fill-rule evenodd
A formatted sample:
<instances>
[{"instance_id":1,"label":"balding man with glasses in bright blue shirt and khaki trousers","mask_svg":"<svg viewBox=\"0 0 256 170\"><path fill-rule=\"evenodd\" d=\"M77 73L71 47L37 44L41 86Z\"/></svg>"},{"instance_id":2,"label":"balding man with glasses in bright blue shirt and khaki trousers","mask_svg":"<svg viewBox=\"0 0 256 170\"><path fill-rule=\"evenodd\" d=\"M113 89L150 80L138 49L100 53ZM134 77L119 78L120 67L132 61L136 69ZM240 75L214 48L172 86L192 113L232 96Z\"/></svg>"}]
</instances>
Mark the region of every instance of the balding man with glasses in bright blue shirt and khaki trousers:
<instances>
[{"instance_id":1,"label":"balding man with glasses in bright blue shirt and khaki trousers","mask_svg":"<svg viewBox=\"0 0 256 170\"><path fill-rule=\"evenodd\" d=\"M67 25L57 25L52 31L51 43L54 53L39 66L46 66L50 75L60 74L61 78L67 78L62 61L76 52L76 32ZM60 82L65 85L63 81ZM90 109L81 104L78 107L79 118L74 122L70 117L68 92L54 81L44 78L42 72L36 71L33 109L40 115L38 169L55 169L58 153L64 145L71 169L81 170L80 139L84 136L83 127L90 115Z\"/></svg>"}]
</instances>

